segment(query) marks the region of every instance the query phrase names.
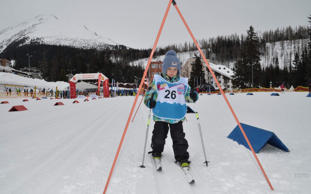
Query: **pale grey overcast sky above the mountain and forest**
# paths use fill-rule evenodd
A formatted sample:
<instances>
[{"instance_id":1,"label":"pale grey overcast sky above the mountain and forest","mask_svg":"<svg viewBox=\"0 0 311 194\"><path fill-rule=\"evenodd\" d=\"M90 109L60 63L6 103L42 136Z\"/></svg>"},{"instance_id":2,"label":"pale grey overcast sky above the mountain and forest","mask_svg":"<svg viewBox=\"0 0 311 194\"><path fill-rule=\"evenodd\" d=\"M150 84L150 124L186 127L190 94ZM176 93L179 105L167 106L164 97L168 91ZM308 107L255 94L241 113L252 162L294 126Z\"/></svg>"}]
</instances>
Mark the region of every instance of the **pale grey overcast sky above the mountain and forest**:
<instances>
[{"instance_id":1,"label":"pale grey overcast sky above the mountain and forest","mask_svg":"<svg viewBox=\"0 0 311 194\"><path fill-rule=\"evenodd\" d=\"M309 25L310 0L176 0L196 39ZM133 48L154 45L169 0L1 0L0 31L52 14ZM157 46L192 40L171 5Z\"/></svg>"}]
</instances>

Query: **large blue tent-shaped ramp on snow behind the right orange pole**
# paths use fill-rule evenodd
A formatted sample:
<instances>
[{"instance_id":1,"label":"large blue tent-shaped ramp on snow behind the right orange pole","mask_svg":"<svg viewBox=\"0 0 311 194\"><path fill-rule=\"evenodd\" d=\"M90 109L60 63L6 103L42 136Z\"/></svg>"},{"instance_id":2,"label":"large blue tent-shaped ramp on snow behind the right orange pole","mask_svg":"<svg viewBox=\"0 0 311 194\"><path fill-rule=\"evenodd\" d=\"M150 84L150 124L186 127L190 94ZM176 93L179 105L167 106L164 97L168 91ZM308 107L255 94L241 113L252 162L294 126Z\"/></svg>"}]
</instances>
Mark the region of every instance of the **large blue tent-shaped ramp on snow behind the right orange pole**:
<instances>
[{"instance_id":1,"label":"large blue tent-shaped ramp on snow behind the right orange pole","mask_svg":"<svg viewBox=\"0 0 311 194\"><path fill-rule=\"evenodd\" d=\"M241 125L256 153L258 153L267 143L281 150L289 152L288 148L273 132L243 123L241 123ZM228 135L227 138L238 142L240 145L244 145L250 150L238 125L233 129L233 131Z\"/></svg>"}]
</instances>

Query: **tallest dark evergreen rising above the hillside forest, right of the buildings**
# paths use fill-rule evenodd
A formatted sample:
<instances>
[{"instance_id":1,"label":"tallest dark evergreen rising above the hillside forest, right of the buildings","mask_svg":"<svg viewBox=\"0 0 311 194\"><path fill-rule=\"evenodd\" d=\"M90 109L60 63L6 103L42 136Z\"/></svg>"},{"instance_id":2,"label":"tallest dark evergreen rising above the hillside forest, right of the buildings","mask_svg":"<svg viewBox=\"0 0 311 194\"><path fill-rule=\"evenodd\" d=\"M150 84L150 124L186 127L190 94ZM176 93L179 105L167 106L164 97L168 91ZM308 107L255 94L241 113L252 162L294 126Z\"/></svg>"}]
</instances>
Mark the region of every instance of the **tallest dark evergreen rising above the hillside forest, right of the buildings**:
<instances>
[{"instance_id":1,"label":"tallest dark evergreen rising above the hillside forest, right of the buildings","mask_svg":"<svg viewBox=\"0 0 311 194\"><path fill-rule=\"evenodd\" d=\"M242 44L241 57L234 64L235 74L232 76L234 88L258 87L260 83L261 65L259 43L253 26L247 30L247 37ZM253 74L253 76L252 76Z\"/></svg>"}]
</instances>

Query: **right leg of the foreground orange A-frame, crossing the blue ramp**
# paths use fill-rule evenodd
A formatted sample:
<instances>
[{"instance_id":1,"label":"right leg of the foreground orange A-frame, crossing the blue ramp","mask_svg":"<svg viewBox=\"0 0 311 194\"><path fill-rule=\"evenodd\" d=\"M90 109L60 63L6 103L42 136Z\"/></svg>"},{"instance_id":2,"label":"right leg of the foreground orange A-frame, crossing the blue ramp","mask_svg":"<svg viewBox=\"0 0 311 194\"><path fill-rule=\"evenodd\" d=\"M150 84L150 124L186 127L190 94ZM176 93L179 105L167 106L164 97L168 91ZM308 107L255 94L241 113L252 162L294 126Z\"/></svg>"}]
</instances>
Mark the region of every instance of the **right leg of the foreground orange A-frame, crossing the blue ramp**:
<instances>
[{"instance_id":1,"label":"right leg of the foreground orange A-frame, crossing the blue ramp","mask_svg":"<svg viewBox=\"0 0 311 194\"><path fill-rule=\"evenodd\" d=\"M249 142L249 140L248 140L248 138L247 138L245 132L244 132L244 129L242 128L242 126L241 126L241 124L240 124L240 122L239 122L237 116L235 115L235 113L234 113L234 111L233 111L233 109L232 109L232 107L231 107L231 105L230 105L230 103L229 103L229 101L228 101L228 99L227 99L227 97L225 96L224 91L223 91L222 88L220 87L220 84L219 84L218 80L216 79L215 74L213 73L213 71L212 71L210 65L207 63L207 60L206 60L206 58L205 58L205 56L204 56L204 54L203 54L203 52L202 52L202 50L201 50L199 44L197 43L196 39L194 38L194 36L193 36L193 34L192 34L192 32L191 32L189 26L188 26L187 23L186 23L186 20L183 18L183 16L182 16L181 12L179 11L179 9L178 9L178 7L177 7L175 1L173 1L173 5L174 5L174 7L176 8L176 10L177 10L179 16L180 16L181 19L183 20L184 25L186 26L186 28L187 28L187 30L188 30L188 32L189 32L191 38L193 39L193 41L194 41L194 43L195 43L195 45L197 46L197 49L199 50L199 52L200 52L200 54L201 54L201 56L202 56L202 58L203 58L203 60L204 60L204 62L205 62L205 64L206 64L207 68L210 70L211 75L213 76L214 80L216 80L216 84L217 84L217 86L218 86L218 88L219 88L219 90L220 90L222 96L225 98L225 101L227 102L227 104L228 104L228 106L229 106L229 109L230 109L232 115L234 116L234 119L236 120L237 124L239 125L239 128L240 128L240 130L241 130L241 132L242 132L242 134L243 134L243 136L244 136L244 138L245 138L245 140L246 140L248 146L250 147L251 151L253 152L253 155L254 155L254 157L255 157L255 159L256 159L256 161L257 161L257 163L258 163L258 165L259 165L259 167L260 167L260 169L261 169L261 171L262 171L262 174L265 176L265 178L266 178L266 180L267 180L267 183L269 184L271 190L274 190L273 187L272 187L272 185L271 185L271 183L270 183L270 181L269 181L269 178L267 177L267 174L265 173L265 170L262 168L262 165L260 164L260 161L258 160L258 157L257 157L257 155L256 155L256 153L255 153L255 151L254 151L254 149L253 149L251 143Z\"/></svg>"}]
</instances>

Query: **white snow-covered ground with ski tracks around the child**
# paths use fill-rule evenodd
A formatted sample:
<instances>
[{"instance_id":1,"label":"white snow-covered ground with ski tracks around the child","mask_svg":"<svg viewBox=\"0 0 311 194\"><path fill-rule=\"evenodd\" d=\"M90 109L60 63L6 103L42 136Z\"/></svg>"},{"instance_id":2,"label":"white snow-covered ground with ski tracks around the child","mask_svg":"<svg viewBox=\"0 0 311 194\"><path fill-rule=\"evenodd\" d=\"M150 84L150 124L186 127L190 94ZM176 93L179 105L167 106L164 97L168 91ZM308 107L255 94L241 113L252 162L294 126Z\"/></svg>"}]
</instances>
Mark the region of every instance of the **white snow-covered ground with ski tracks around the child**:
<instances>
[{"instance_id":1,"label":"white snow-covered ground with ski tracks around the child","mask_svg":"<svg viewBox=\"0 0 311 194\"><path fill-rule=\"evenodd\" d=\"M274 132L290 150L266 145L257 154L275 191L270 190L251 151L227 138L237 124L223 97L204 94L197 108L208 167L203 164L195 114L187 114L183 124L195 184L189 185L174 163L170 137L163 152L163 171L155 170L147 154L146 168L139 167L149 113L142 104L129 124L107 193L310 193L311 98L307 92L270 94L227 97L240 122ZM0 104L0 193L101 194L134 97L77 99L80 103L75 104L73 99L23 99L1 99L9 104ZM53 106L56 102L65 105ZM16 105L28 110L8 112ZM194 109L193 104L189 106Z\"/></svg>"}]
</instances>

